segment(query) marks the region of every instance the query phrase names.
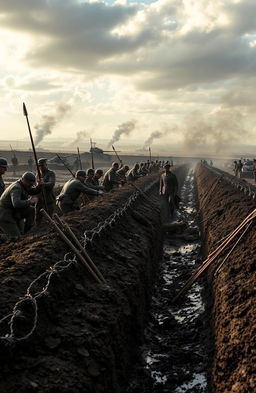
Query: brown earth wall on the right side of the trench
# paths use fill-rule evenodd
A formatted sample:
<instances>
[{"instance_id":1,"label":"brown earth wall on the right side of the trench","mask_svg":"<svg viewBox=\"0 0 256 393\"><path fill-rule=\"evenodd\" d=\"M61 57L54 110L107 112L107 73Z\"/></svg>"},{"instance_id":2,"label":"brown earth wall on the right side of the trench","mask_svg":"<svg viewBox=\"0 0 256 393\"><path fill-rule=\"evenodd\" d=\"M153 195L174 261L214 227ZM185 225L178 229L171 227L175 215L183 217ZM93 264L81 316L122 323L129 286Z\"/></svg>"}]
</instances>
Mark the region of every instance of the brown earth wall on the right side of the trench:
<instances>
[{"instance_id":1,"label":"brown earth wall on the right side of the trench","mask_svg":"<svg viewBox=\"0 0 256 393\"><path fill-rule=\"evenodd\" d=\"M231 184L203 165L197 167L196 182L207 254L255 209L255 199L253 193L235 187L236 181ZM214 335L212 392L255 392L255 219L218 274L215 266L208 271Z\"/></svg>"}]
</instances>

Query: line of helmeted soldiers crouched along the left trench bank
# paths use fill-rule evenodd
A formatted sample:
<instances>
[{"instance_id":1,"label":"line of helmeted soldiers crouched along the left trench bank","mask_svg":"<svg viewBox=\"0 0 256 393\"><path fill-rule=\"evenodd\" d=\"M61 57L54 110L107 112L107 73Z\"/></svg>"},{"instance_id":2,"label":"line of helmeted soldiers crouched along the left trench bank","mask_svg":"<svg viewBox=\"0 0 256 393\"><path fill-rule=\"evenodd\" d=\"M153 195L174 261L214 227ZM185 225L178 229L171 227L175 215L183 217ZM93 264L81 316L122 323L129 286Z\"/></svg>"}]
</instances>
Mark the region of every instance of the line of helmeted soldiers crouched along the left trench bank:
<instances>
[{"instance_id":1,"label":"line of helmeted soldiers crouched along the left trench bank","mask_svg":"<svg viewBox=\"0 0 256 393\"><path fill-rule=\"evenodd\" d=\"M9 239L17 239L27 233L34 224L40 225L44 208L52 216L56 204L63 214L79 209L79 196L84 203L91 198L135 181L141 176L162 168L162 162L136 163L131 169L127 165L119 166L114 162L105 173L103 170L78 170L74 178L68 180L60 194L55 197L55 173L48 169L47 159L40 158L38 166L40 178L32 172L25 172L20 179L5 188L2 175L8 168L5 158L0 157L0 229ZM44 190L43 190L44 189ZM83 197L84 196L84 197Z\"/></svg>"}]
</instances>

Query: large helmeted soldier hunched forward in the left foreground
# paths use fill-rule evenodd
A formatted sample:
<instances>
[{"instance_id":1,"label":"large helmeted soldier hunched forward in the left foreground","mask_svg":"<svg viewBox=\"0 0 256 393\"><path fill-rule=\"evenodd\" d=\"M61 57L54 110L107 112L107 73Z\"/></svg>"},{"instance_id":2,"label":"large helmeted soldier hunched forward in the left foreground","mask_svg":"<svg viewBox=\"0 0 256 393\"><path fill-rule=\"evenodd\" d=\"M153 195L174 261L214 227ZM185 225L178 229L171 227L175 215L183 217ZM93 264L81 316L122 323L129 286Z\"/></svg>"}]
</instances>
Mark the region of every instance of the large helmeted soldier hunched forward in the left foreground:
<instances>
[{"instance_id":1,"label":"large helmeted soldier hunched forward in the left foreground","mask_svg":"<svg viewBox=\"0 0 256 393\"><path fill-rule=\"evenodd\" d=\"M0 198L0 228L11 239L19 238L34 225L37 194L41 191L40 182L33 187L35 183L35 175L25 172Z\"/></svg>"}]
</instances>

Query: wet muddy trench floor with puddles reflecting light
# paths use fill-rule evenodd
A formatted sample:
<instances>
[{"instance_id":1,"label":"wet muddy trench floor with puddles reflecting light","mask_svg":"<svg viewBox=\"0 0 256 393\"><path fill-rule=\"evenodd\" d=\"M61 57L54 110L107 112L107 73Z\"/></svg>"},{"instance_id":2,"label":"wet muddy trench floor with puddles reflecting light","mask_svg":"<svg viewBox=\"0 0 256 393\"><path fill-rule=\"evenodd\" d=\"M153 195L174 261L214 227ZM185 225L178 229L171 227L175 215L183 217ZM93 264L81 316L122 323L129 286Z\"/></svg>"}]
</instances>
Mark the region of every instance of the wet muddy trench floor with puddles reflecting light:
<instances>
[{"instance_id":1,"label":"wet muddy trench floor with puddles reflecting light","mask_svg":"<svg viewBox=\"0 0 256 393\"><path fill-rule=\"evenodd\" d=\"M195 283L178 304L172 304L178 287L201 263L193 169L182 187L181 200L176 218L186 222L187 229L165 236L141 359L127 393L208 392L209 325L202 282Z\"/></svg>"}]
</instances>

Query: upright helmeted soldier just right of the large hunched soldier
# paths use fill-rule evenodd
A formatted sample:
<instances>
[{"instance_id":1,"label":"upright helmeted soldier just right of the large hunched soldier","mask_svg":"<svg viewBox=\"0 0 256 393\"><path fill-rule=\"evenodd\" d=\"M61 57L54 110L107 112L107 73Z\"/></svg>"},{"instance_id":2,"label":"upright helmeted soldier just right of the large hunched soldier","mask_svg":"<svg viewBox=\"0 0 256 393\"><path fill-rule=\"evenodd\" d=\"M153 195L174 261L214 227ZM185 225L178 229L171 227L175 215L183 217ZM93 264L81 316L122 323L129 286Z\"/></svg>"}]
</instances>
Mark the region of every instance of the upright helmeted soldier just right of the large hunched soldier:
<instances>
[{"instance_id":1,"label":"upright helmeted soldier just right of the large hunched soldier","mask_svg":"<svg viewBox=\"0 0 256 393\"><path fill-rule=\"evenodd\" d=\"M47 158L39 158L38 166L41 174L42 187L44 188L44 194L42 192L40 193L38 202L36 204L36 224L40 225L43 218L43 215L40 212L42 208L47 211L50 217L52 217L54 213L56 207L56 198L53 188L55 186L56 178L55 173L47 167Z\"/></svg>"}]
</instances>

